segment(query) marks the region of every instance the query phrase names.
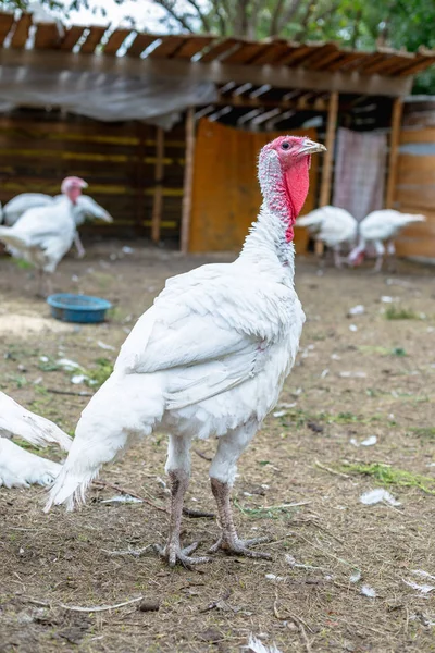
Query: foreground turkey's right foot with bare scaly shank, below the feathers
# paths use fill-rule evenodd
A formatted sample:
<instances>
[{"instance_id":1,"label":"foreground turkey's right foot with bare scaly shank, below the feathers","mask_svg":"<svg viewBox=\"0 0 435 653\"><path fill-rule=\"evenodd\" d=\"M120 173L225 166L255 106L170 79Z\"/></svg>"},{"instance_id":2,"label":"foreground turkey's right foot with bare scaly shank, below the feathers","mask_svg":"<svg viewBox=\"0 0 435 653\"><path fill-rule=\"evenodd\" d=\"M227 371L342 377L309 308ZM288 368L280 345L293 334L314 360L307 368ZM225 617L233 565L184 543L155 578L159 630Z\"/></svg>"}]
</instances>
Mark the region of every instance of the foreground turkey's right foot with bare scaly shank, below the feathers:
<instances>
[{"instance_id":1,"label":"foreground turkey's right foot with bare scaly shank, below the feathers","mask_svg":"<svg viewBox=\"0 0 435 653\"><path fill-rule=\"evenodd\" d=\"M216 501L219 520L221 522L222 535L215 544L209 550L209 553L216 553L220 549L226 553L235 553L246 555L252 558L271 559L269 553L261 551L251 551L249 546L270 542L270 538L253 538L251 540L240 540L236 532L236 527L233 521L233 514L229 505L229 485L222 483L217 479L211 479L211 490Z\"/></svg>"}]
</instances>

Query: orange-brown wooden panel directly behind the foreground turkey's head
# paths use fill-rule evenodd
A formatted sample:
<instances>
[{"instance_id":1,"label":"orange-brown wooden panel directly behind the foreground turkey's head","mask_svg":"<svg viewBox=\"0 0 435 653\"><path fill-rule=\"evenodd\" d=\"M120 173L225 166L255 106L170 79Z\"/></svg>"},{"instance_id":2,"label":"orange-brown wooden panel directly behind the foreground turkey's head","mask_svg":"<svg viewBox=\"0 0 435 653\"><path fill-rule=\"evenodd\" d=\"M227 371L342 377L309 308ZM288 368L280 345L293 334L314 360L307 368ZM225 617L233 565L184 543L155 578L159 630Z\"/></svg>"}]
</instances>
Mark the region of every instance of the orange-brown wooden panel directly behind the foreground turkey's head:
<instances>
[{"instance_id":1,"label":"orange-brown wooden panel directly behind the foreground turkey's head","mask_svg":"<svg viewBox=\"0 0 435 653\"><path fill-rule=\"evenodd\" d=\"M316 131L312 128L293 130L291 134L318 139ZM283 133L245 132L204 118L199 121L188 251L240 249L261 205L257 181L259 151L279 135ZM302 214L315 206L318 161L319 157L312 158L310 193ZM296 229L295 245L298 252L306 250L307 242L307 231Z\"/></svg>"}]
</instances>

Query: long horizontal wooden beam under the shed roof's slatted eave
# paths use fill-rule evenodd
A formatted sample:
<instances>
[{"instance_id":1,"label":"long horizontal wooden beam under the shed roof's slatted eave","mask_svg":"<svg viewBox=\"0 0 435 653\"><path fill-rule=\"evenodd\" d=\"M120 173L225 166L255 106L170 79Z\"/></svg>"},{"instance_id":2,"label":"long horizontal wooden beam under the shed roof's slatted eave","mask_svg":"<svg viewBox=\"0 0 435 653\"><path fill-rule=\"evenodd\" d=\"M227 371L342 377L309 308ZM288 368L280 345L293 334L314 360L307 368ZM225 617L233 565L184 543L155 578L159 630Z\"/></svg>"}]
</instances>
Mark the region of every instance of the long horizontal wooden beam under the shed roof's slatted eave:
<instances>
[{"instance_id":1,"label":"long horizontal wooden beam under the shed roof's slatted eave","mask_svg":"<svg viewBox=\"0 0 435 653\"><path fill-rule=\"evenodd\" d=\"M270 84L276 88L300 88L303 90L328 90L359 95L381 95L400 97L408 95L412 86L412 77L388 77L382 75L360 75L356 72L310 71L287 65L249 66L225 64L213 61L177 61L167 59L132 59L127 57L85 56L82 53L49 51L14 50L2 51L3 65L28 65L49 70L69 70L119 75L154 74L163 76L185 77L197 82L214 82L225 84L236 82L261 86Z\"/></svg>"}]
</instances>

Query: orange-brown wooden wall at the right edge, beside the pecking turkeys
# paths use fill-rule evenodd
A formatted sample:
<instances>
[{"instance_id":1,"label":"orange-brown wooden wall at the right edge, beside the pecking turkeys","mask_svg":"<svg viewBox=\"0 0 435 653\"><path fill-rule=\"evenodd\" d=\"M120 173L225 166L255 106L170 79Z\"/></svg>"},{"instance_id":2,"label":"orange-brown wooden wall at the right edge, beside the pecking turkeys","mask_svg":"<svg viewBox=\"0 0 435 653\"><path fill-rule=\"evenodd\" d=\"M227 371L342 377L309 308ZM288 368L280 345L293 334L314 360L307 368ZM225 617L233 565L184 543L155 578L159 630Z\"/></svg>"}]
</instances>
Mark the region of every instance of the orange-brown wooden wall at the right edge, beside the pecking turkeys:
<instances>
[{"instance_id":1,"label":"orange-brown wooden wall at the right edge, beside the pecking turkeys","mask_svg":"<svg viewBox=\"0 0 435 653\"><path fill-rule=\"evenodd\" d=\"M405 213L422 213L426 222L401 232L397 254L435 261L435 127L402 130L400 146L412 146L413 153L399 153L394 207Z\"/></svg>"}]
</instances>

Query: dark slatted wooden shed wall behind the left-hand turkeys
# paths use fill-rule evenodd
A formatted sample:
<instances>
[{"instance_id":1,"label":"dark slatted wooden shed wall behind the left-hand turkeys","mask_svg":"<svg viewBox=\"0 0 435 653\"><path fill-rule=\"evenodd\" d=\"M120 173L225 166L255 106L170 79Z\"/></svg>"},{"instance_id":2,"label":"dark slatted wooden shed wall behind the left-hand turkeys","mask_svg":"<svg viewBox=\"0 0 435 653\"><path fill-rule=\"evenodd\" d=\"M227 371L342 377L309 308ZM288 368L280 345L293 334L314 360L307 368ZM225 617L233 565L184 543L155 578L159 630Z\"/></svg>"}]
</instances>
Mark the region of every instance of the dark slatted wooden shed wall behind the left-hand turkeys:
<instances>
[{"instance_id":1,"label":"dark slatted wooden shed wall behind the left-hand turkeys","mask_svg":"<svg viewBox=\"0 0 435 653\"><path fill-rule=\"evenodd\" d=\"M100 123L59 111L20 110L0 116L0 201L20 193L57 195L67 175L114 223L85 225L104 236L150 236L156 193L157 128L138 122ZM184 123L164 134L160 236L178 241L184 178ZM159 190L160 193L160 190Z\"/></svg>"}]
</instances>

